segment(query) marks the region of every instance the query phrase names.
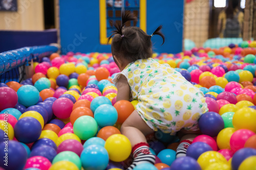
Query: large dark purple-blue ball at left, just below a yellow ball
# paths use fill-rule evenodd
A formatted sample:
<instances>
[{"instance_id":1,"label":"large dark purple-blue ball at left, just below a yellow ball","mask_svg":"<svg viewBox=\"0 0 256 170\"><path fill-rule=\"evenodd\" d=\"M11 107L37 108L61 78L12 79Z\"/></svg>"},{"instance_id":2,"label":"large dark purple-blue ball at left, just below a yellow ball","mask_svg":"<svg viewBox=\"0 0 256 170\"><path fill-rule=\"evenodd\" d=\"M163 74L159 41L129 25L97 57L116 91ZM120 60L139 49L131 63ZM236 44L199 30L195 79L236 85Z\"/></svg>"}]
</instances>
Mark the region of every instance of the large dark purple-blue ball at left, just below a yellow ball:
<instances>
[{"instance_id":1,"label":"large dark purple-blue ball at left, just below a yellow ball","mask_svg":"<svg viewBox=\"0 0 256 170\"><path fill-rule=\"evenodd\" d=\"M42 127L33 117L23 117L14 126L15 138L23 143L32 143L41 135Z\"/></svg>"}]
</instances>

